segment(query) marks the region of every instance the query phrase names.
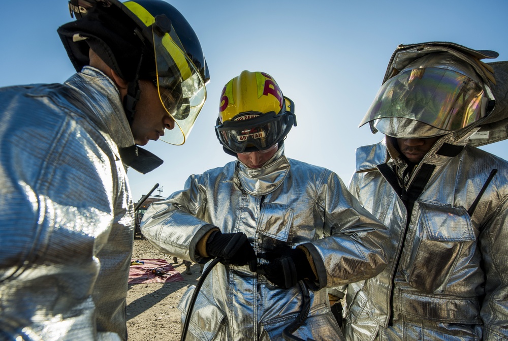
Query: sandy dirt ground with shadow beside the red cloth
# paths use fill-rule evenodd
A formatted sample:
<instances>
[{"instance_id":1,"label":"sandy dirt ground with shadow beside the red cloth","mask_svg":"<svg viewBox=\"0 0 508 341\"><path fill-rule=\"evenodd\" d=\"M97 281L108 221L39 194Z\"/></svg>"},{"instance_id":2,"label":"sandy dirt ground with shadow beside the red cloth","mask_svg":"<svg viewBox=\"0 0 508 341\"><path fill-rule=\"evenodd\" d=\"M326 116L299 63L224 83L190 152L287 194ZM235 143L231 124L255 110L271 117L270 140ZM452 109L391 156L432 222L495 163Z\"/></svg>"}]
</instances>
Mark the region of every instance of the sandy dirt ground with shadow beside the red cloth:
<instances>
[{"instance_id":1,"label":"sandy dirt ground with shadow beside the red cloth","mask_svg":"<svg viewBox=\"0 0 508 341\"><path fill-rule=\"evenodd\" d=\"M146 239L134 239L133 259L164 259L181 273L184 281L174 283L130 284L127 292L127 329L129 341L180 340L178 302L189 285L200 278L199 264L192 264L192 274L178 259L155 250Z\"/></svg>"}]
</instances>

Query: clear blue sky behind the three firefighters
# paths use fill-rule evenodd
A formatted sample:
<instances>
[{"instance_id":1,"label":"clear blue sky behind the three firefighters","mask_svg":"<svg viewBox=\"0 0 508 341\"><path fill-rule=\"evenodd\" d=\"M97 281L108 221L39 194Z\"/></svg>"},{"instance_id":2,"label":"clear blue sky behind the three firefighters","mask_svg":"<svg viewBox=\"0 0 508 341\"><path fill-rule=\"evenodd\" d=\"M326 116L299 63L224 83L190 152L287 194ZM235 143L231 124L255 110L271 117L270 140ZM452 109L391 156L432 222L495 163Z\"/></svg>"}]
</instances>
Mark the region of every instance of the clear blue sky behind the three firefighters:
<instances>
[{"instance_id":1,"label":"clear blue sky behind the three firefighters","mask_svg":"<svg viewBox=\"0 0 508 341\"><path fill-rule=\"evenodd\" d=\"M295 102L298 126L285 142L286 155L327 167L347 184L355 149L383 138L358 123L398 44L451 41L508 60L506 0L169 2L201 41L211 76L208 99L183 146L147 145L164 159L160 168L146 175L129 170L135 201L155 183L163 192L154 194L169 196L189 174L234 160L213 126L221 89L242 70L270 74ZM0 86L69 78L75 71L56 29L71 20L66 0L4 2ZM483 149L508 159L508 141Z\"/></svg>"}]
</instances>

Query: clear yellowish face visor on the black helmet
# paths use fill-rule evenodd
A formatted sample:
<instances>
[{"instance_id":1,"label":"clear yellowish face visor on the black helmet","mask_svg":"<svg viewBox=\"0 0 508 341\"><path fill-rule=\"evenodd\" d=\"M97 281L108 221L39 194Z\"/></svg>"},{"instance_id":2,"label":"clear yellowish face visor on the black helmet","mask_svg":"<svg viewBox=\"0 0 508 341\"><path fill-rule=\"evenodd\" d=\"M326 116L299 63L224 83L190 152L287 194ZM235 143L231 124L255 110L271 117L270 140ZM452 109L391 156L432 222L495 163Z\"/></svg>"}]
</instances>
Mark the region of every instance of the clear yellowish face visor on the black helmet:
<instances>
[{"instance_id":1,"label":"clear yellowish face visor on the black helmet","mask_svg":"<svg viewBox=\"0 0 508 341\"><path fill-rule=\"evenodd\" d=\"M173 31L173 30L172 30ZM161 103L175 121L161 140L174 145L185 143L206 100L205 82L198 69L171 38L153 34L157 89Z\"/></svg>"}]
</instances>

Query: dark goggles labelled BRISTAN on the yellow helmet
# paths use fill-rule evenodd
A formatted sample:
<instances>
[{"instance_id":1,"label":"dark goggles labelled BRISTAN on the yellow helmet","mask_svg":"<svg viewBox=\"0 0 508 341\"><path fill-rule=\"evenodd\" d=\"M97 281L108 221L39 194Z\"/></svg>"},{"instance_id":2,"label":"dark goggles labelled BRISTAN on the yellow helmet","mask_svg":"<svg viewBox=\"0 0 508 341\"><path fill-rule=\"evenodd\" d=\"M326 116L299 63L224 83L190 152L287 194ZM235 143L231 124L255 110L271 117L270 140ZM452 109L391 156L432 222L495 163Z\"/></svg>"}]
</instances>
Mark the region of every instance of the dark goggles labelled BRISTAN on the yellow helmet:
<instances>
[{"instance_id":1,"label":"dark goggles labelled BRISTAN on the yellow helmet","mask_svg":"<svg viewBox=\"0 0 508 341\"><path fill-rule=\"evenodd\" d=\"M285 112L269 112L248 121L231 120L223 124L217 120L215 131L220 142L235 153L268 149L287 134L288 116Z\"/></svg>"}]
</instances>

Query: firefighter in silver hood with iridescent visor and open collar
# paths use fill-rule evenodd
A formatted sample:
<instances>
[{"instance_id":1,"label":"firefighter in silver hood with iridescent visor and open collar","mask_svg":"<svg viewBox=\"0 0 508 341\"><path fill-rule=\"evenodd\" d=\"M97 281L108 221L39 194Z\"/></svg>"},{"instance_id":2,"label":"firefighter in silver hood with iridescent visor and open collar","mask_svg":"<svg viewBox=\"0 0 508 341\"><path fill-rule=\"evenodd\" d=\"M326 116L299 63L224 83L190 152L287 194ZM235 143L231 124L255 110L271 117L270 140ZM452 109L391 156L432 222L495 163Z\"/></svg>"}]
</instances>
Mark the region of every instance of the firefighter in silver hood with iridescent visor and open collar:
<instances>
[{"instance_id":1,"label":"firefighter in silver hood with iridescent visor and open collar","mask_svg":"<svg viewBox=\"0 0 508 341\"><path fill-rule=\"evenodd\" d=\"M347 288L348 340L508 338L508 63L454 43L400 45L361 125L350 191L390 229L383 272Z\"/></svg>"}]
</instances>

